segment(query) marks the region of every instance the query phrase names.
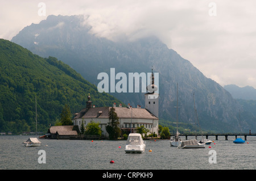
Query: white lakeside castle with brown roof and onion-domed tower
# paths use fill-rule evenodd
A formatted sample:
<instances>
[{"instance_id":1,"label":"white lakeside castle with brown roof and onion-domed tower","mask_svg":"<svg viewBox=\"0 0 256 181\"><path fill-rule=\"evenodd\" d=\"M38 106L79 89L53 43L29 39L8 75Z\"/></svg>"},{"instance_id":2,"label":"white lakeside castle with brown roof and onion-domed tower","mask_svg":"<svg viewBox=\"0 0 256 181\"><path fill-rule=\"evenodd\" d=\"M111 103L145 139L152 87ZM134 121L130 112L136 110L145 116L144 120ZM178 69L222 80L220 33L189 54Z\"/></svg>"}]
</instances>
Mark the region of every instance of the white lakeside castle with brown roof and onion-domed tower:
<instances>
[{"instance_id":1,"label":"white lakeside castle with brown roof and onion-domed tower","mask_svg":"<svg viewBox=\"0 0 256 181\"><path fill-rule=\"evenodd\" d=\"M148 134L156 133L158 134L158 104L159 104L159 94L155 91L157 87L154 85L154 74L151 74L151 83L147 86L147 93L145 94L145 108L137 106L133 108L128 104L128 107L122 107L122 104L117 106L113 103L115 112L119 117L119 127L123 131L136 132L136 128L141 127L149 130ZM84 125L94 121L100 124L102 134L108 137L106 132L106 126L109 123L109 111L112 107L95 107L92 106L92 101L90 100L90 95L88 96L88 101L86 102L86 108L82 109L79 113L76 113L73 119L73 125L78 125L81 128L82 121Z\"/></svg>"}]
</instances>

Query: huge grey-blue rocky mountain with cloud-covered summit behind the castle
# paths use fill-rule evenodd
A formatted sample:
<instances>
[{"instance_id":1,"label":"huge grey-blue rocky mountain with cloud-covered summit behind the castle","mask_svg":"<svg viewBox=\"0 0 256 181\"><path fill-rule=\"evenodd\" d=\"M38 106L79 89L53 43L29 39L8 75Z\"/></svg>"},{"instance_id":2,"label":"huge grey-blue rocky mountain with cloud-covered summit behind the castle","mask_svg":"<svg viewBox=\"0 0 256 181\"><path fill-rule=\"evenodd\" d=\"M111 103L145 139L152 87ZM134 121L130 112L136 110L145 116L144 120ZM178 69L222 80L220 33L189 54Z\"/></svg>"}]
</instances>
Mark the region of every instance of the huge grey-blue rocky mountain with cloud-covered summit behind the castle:
<instances>
[{"instance_id":1,"label":"huge grey-blue rocky mountain with cloud-covered summit behind the castle","mask_svg":"<svg viewBox=\"0 0 256 181\"><path fill-rule=\"evenodd\" d=\"M98 74L159 73L159 118L176 120L176 85L179 83L179 122L195 123L193 94L200 125L215 132L240 131L240 104L217 82L203 75L175 50L168 49L154 36L130 41L112 41L93 35L88 17L50 15L39 24L23 28L11 41L42 57L54 56L65 62L94 85ZM117 83L117 81L115 82ZM122 102L144 107L144 94L110 93ZM243 112L242 112L243 113ZM246 112L244 112L246 113ZM256 128L254 117L242 121L243 129Z\"/></svg>"}]
</instances>

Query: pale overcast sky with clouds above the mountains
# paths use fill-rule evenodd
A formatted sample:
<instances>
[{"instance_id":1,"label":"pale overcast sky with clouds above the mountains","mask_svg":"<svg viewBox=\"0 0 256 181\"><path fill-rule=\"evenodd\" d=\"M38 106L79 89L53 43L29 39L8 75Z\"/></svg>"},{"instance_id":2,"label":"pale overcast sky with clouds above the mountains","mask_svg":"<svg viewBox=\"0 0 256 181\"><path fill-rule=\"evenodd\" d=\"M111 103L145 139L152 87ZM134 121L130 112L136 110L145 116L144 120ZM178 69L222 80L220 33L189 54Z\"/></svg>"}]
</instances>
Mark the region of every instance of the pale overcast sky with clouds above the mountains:
<instances>
[{"instance_id":1,"label":"pale overcast sky with clouds above the mountains","mask_svg":"<svg viewBox=\"0 0 256 181\"><path fill-rule=\"evenodd\" d=\"M154 34L220 85L256 88L255 0L1 1L0 38L11 40L48 15L78 14L90 15L97 36Z\"/></svg>"}]
</instances>

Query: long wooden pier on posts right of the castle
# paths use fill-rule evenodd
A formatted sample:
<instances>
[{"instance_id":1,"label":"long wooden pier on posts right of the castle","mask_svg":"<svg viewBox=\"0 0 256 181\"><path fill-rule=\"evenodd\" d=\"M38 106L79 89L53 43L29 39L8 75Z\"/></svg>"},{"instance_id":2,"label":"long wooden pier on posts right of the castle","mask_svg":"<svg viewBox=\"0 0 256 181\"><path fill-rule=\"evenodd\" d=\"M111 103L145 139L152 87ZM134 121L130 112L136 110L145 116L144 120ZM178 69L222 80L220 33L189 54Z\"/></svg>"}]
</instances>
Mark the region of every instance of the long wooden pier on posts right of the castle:
<instances>
[{"instance_id":1,"label":"long wooden pier on posts right of the castle","mask_svg":"<svg viewBox=\"0 0 256 181\"><path fill-rule=\"evenodd\" d=\"M202 136L202 134L180 134L180 136L185 136L186 140L188 140L188 136ZM237 136L243 136L245 138L245 141L247 140L247 136L256 136L256 133L206 133L203 134L205 138L208 139L209 136L215 136L215 140L218 140L218 136L225 136L225 140L228 140L228 136L234 136L237 138Z\"/></svg>"}]
</instances>

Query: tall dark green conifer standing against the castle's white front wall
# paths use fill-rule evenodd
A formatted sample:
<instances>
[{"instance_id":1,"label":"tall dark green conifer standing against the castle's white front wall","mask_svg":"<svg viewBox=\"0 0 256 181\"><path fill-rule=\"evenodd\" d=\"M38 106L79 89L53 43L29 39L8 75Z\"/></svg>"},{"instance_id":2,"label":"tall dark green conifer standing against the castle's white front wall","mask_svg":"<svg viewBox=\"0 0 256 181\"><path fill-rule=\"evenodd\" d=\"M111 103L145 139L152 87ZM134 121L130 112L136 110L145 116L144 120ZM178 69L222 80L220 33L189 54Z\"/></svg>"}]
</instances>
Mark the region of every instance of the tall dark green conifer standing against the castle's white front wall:
<instances>
[{"instance_id":1,"label":"tall dark green conifer standing against the castle's white front wall","mask_svg":"<svg viewBox=\"0 0 256 181\"><path fill-rule=\"evenodd\" d=\"M115 108L110 108L109 111L109 123L106 126L106 131L109 133L109 139L114 140L118 138L121 134L121 129L118 127L119 125L119 117L115 112Z\"/></svg>"}]
</instances>

